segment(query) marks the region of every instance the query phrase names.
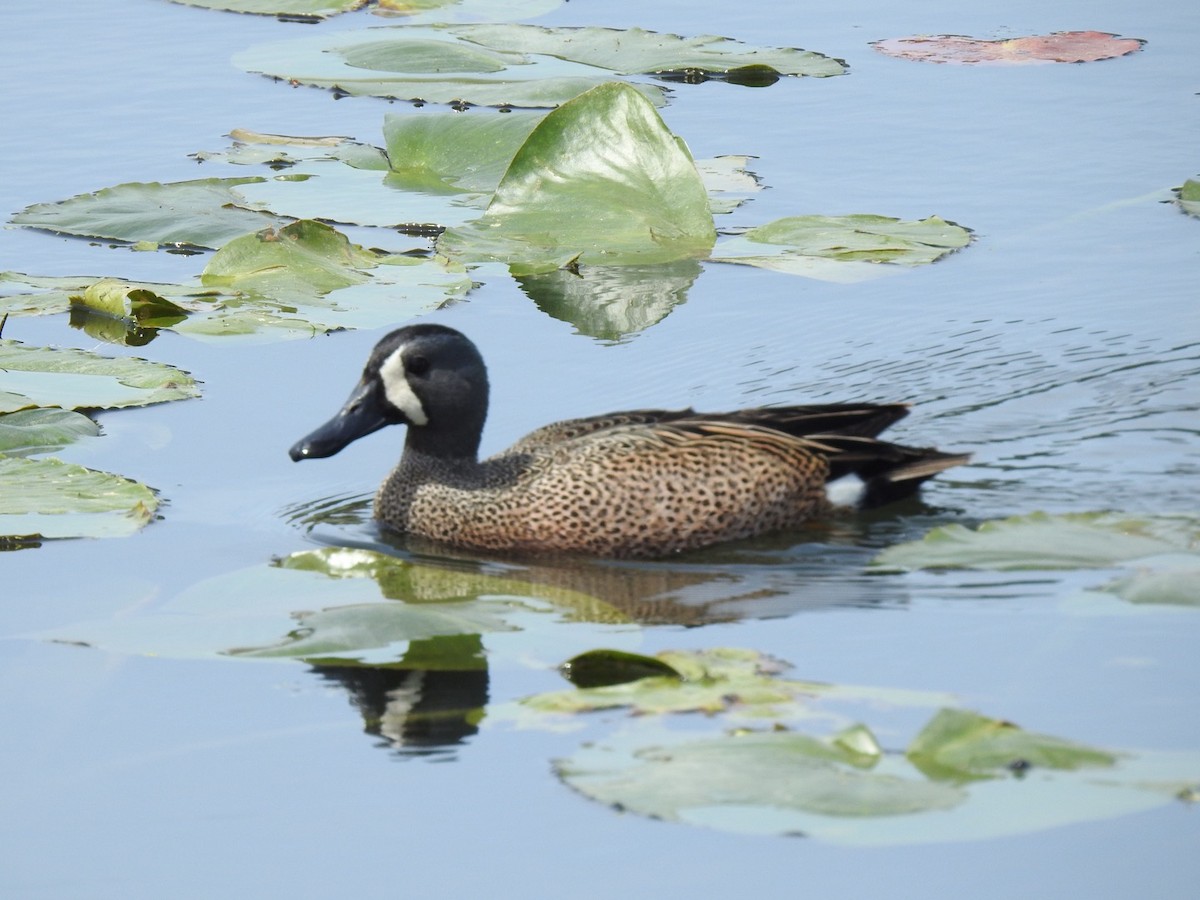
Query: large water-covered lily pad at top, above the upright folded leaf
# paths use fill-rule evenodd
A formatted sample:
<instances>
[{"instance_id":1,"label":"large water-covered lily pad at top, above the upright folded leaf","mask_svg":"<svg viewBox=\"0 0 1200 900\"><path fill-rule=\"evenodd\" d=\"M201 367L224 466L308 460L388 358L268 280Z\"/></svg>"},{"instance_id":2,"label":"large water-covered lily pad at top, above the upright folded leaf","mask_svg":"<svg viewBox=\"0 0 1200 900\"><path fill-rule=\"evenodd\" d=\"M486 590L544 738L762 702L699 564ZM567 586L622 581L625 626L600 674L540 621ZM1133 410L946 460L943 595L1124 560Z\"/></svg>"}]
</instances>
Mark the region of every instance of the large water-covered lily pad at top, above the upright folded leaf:
<instances>
[{"instance_id":1,"label":"large water-covered lily pad at top, above the upright folded leaf","mask_svg":"<svg viewBox=\"0 0 1200 900\"><path fill-rule=\"evenodd\" d=\"M259 44L238 54L234 62L251 72L347 94L517 107L559 106L613 73L762 83L770 80L767 73L778 78L845 72L840 62L818 53L755 48L709 35L510 24L341 31ZM660 88L637 89L664 102Z\"/></svg>"}]
</instances>

